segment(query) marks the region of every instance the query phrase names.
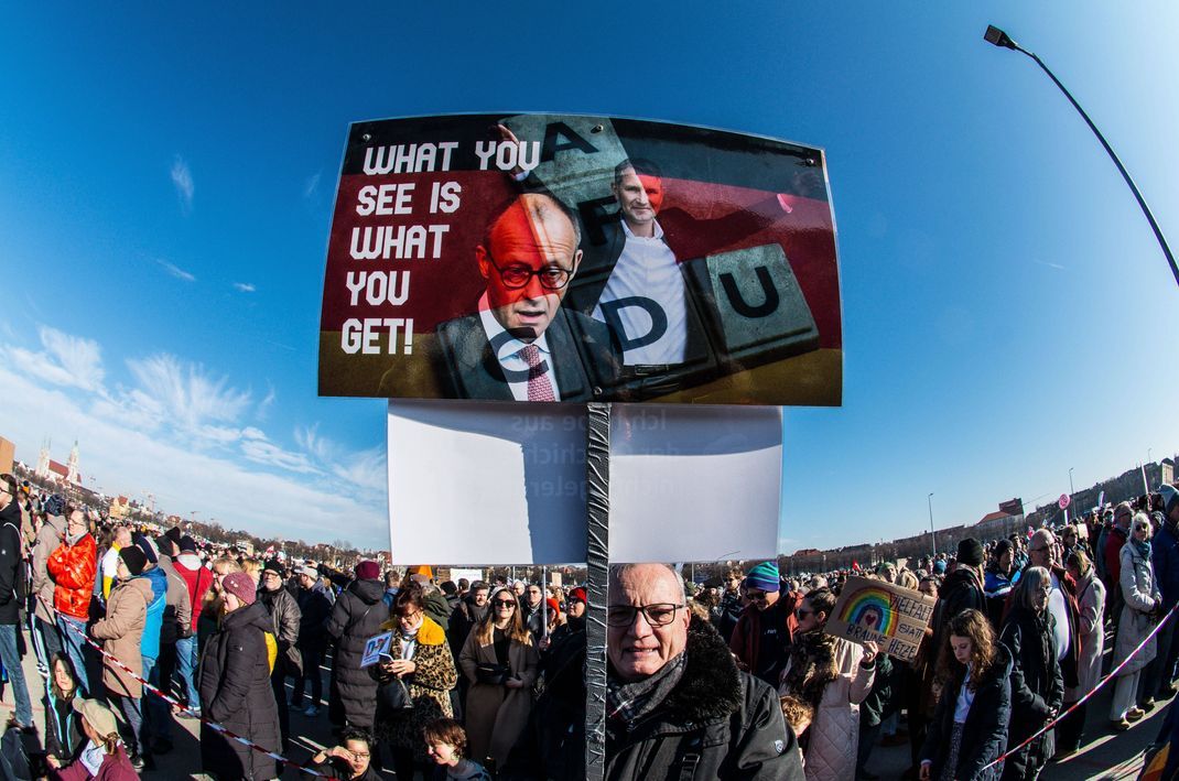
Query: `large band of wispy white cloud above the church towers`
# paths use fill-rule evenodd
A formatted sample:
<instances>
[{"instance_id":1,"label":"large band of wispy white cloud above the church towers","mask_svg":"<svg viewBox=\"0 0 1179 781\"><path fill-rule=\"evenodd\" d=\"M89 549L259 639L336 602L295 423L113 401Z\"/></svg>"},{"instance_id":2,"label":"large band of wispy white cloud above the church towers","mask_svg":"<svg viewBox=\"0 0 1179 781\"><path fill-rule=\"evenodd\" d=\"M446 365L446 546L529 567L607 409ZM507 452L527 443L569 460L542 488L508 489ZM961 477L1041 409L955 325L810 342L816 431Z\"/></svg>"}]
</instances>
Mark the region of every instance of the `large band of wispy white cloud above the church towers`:
<instances>
[{"instance_id":1,"label":"large band of wispy white cloud above the church towers","mask_svg":"<svg viewBox=\"0 0 1179 781\"><path fill-rule=\"evenodd\" d=\"M256 403L230 378L160 353L126 359L130 383L107 388L97 342L39 333L40 349L11 333L0 343L5 435L22 461L46 437L77 438L84 471L107 492L151 490L169 512L199 509L256 534L321 541L348 528L362 544L388 544L383 448L355 451L317 426L296 429L284 446L256 424L272 386Z\"/></svg>"}]
</instances>

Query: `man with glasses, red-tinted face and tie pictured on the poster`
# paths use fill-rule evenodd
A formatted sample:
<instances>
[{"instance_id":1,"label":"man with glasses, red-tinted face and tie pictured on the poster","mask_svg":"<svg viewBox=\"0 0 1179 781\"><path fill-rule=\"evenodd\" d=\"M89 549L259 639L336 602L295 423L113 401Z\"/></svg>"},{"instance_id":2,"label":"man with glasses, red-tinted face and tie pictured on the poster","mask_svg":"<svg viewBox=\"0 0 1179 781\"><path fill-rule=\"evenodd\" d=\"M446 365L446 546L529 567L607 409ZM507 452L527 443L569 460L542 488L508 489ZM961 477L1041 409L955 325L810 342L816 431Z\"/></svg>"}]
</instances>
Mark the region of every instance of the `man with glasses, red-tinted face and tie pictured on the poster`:
<instances>
[{"instance_id":1,"label":"man with glasses, red-tinted face and tie pictured on the poster","mask_svg":"<svg viewBox=\"0 0 1179 781\"><path fill-rule=\"evenodd\" d=\"M585 402L617 383L621 352L610 331L561 306L580 241L573 213L544 193L519 196L492 220L475 249L487 280L477 313L437 327L449 396Z\"/></svg>"}]
</instances>

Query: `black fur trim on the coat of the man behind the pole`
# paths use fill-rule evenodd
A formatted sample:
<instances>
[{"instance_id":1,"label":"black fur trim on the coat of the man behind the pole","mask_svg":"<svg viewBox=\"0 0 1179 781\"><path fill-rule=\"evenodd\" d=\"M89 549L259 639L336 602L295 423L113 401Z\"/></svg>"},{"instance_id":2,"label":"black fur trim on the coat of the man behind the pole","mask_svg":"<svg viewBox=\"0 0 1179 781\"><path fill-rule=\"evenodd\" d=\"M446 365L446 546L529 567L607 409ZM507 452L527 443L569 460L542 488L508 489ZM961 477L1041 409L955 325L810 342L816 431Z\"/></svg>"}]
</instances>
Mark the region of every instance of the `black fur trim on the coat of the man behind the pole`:
<instances>
[{"instance_id":1,"label":"black fur trim on the coat of the man behind the pole","mask_svg":"<svg viewBox=\"0 0 1179 781\"><path fill-rule=\"evenodd\" d=\"M692 616L684 653L684 676L659 709L665 717L699 723L737 710L742 701L737 663L712 624Z\"/></svg>"}]
</instances>

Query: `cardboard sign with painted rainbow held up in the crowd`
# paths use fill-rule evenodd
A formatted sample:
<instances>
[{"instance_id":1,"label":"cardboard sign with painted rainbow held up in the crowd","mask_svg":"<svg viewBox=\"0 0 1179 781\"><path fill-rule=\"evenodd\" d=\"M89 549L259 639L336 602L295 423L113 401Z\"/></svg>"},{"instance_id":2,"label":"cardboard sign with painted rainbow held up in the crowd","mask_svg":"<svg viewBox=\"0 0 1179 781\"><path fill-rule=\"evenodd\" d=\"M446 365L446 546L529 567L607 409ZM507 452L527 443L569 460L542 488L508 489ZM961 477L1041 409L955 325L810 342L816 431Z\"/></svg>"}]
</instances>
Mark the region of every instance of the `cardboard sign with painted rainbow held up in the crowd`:
<instances>
[{"instance_id":1,"label":"cardboard sign with painted rainbow held up in the crowd","mask_svg":"<svg viewBox=\"0 0 1179 781\"><path fill-rule=\"evenodd\" d=\"M856 643L874 641L885 654L908 661L917 655L936 603L921 591L852 576L826 620L825 631Z\"/></svg>"}]
</instances>

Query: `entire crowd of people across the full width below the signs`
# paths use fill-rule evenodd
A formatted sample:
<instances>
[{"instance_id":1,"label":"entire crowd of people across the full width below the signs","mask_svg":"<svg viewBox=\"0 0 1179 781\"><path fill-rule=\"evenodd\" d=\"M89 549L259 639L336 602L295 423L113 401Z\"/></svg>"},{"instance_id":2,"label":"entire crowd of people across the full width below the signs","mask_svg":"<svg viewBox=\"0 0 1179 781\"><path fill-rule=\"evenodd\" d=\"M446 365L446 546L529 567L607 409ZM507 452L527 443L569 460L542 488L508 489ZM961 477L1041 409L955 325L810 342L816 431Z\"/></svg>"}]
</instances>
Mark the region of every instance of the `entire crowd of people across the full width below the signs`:
<instances>
[{"instance_id":1,"label":"entire crowd of people across the full width below the signs","mask_svg":"<svg viewBox=\"0 0 1179 781\"><path fill-rule=\"evenodd\" d=\"M936 600L916 656L825 630L851 575ZM1104 673L1112 730L1174 694L1173 622L1152 631L1179 602L1179 491L871 569L619 565L608 595L608 779L871 781L881 744L909 746L911 779L1034 779L1081 748ZM271 753L342 779L582 777L586 608L584 588L255 558L0 475L0 662L38 776L138 777L190 719L216 779L277 777ZM291 708L336 744L292 743Z\"/></svg>"}]
</instances>

